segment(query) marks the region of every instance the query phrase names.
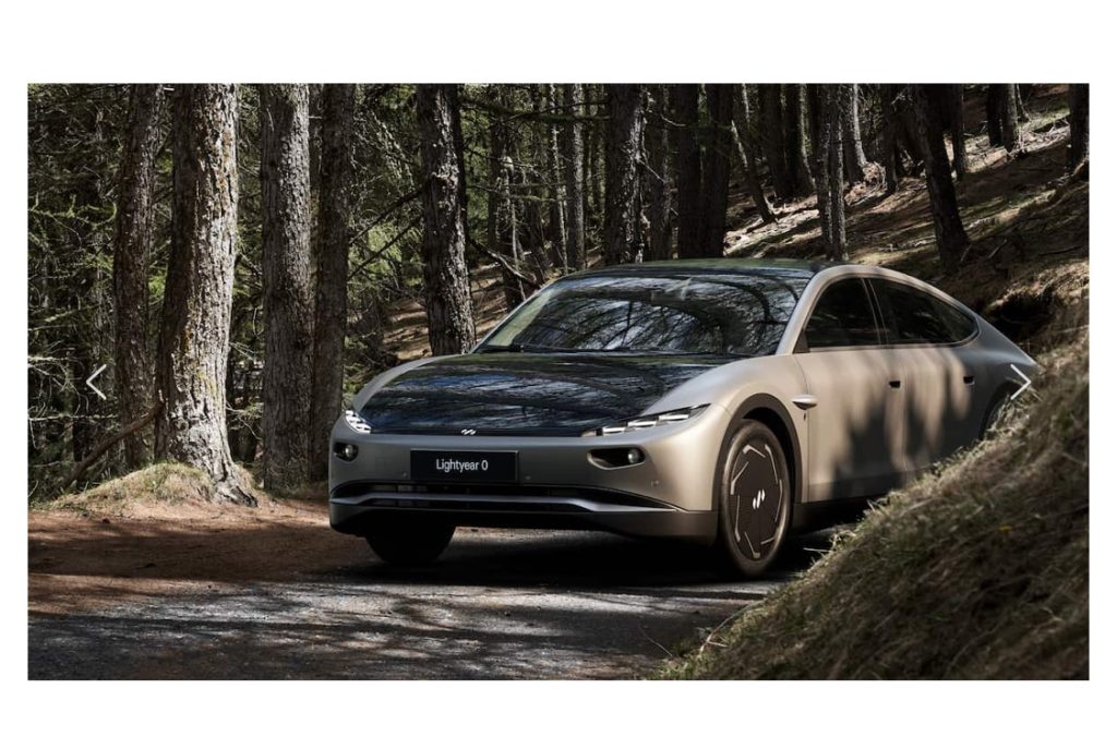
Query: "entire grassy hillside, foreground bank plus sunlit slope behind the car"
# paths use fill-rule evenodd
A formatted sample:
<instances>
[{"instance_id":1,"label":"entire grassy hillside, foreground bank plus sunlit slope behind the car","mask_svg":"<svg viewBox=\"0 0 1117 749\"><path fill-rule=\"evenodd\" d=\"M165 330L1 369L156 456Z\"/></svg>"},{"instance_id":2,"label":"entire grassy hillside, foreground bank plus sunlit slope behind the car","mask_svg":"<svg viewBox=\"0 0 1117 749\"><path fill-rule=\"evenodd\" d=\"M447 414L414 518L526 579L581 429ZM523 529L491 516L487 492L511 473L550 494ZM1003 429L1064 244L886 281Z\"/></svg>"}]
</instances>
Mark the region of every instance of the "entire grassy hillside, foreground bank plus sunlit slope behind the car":
<instances>
[{"instance_id":1,"label":"entire grassy hillside, foreground bank plus sunlit slope behind the car","mask_svg":"<svg viewBox=\"0 0 1117 749\"><path fill-rule=\"evenodd\" d=\"M992 440L894 492L659 676L1088 675L1089 192L1060 173L1058 116L1035 113L1031 150L1012 162L971 143L980 171L961 200L976 261L957 276L934 279L926 213L900 208L926 211L919 185L885 212L862 198L850 222L871 238L855 259L930 277L1009 329L1044 366L1034 390ZM811 255L815 234L804 222L742 249Z\"/></svg>"}]
</instances>

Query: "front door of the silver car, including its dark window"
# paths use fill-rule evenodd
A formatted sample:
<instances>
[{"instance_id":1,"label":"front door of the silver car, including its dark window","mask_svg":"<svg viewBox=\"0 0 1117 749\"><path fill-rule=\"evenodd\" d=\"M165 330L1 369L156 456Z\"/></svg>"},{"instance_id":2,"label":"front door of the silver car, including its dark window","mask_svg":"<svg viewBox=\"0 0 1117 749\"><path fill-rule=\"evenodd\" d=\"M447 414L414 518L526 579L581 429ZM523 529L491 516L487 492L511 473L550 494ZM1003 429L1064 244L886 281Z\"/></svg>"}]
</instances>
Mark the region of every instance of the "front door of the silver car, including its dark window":
<instances>
[{"instance_id":1,"label":"front door of the silver car, including its dark window","mask_svg":"<svg viewBox=\"0 0 1117 749\"><path fill-rule=\"evenodd\" d=\"M905 373L882 346L865 280L839 279L822 289L795 353L808 390L795 398L808 423L808 501L897 487L907 470Z\"/></svg>"}]
</instances>

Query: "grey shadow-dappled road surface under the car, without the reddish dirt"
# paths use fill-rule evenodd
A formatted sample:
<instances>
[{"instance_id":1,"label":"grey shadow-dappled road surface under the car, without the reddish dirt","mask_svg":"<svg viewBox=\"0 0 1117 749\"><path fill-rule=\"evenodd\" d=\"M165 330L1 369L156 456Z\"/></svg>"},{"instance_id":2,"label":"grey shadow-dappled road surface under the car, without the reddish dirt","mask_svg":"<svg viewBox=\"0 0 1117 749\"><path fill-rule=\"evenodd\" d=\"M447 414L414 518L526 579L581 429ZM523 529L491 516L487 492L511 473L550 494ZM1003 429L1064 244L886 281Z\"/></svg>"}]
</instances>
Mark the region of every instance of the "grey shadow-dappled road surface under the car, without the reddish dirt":
<instances>
[{"instance_id":1,"label":"grey shadow-dappled road surface under the car, without the reddish dirt","mask_svg":"<svg viewBox=\"0 0 1117 749\"><path fill-rule=\"evenodd\" d=\"M592 532L459 529L429 568L360 539L347 564L29 616L31 679L624 679L809 564L725 582L700 549ZM346 553L347 553L346 547ZM265 563L266 564L266 563Z\"/></svg>"}]
</instances>

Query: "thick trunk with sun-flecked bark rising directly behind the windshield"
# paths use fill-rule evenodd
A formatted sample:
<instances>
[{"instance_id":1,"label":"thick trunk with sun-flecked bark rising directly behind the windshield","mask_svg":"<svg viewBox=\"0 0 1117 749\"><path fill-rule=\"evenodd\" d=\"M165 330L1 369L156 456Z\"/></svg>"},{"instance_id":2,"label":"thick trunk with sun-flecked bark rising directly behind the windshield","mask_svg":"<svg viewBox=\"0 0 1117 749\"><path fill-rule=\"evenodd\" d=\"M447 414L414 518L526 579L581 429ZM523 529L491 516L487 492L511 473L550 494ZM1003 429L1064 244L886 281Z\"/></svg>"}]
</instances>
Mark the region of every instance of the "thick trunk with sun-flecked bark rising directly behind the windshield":
<instances>
[{"instance_id":1,"label":"thick trunk with sun-flecked bark rising directly behind the windshield","mask_svg":"<svg viewBox=\"0 0 1117 749\"><path fill-rule=\"evenodd\" d=\"M605 86L609 129L605 144L605 265L640 262L642 205L640 164L643 106L639 85Z\"/></svg>"}]
</instances>

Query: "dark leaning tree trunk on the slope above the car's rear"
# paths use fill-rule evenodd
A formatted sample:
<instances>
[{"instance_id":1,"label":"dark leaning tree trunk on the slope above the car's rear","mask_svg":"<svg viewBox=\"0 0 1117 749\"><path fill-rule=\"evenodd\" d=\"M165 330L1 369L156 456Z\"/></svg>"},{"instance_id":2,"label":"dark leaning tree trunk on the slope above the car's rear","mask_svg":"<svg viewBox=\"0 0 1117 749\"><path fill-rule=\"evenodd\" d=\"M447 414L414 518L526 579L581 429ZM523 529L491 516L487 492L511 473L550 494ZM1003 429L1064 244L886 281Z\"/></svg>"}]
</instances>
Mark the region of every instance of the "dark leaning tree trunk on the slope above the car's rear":
<instances>
[{"instance_id":1,"label":"dark leaning tree trunk on the slope above the car's rear","mask_svg":"<svg viewBox=\"0 0 1117 749\"><path fill-rule=\"evenodd\" d=\"M935 240L938 257L946 272L957 268L962 252L970 243L958 202L951 180L951 162L943 142L943 122L939 108L935 106L934 94L926 85L914 85L915 115L919 137L924 145L924 163L927 174L927 193L930 196L930 213L935 221Z\"/></svg>"}]
</instances>

